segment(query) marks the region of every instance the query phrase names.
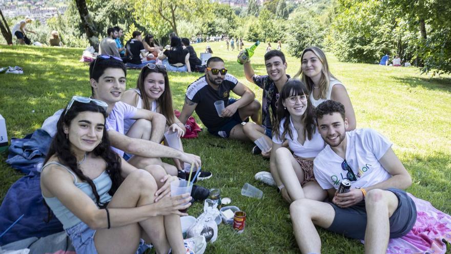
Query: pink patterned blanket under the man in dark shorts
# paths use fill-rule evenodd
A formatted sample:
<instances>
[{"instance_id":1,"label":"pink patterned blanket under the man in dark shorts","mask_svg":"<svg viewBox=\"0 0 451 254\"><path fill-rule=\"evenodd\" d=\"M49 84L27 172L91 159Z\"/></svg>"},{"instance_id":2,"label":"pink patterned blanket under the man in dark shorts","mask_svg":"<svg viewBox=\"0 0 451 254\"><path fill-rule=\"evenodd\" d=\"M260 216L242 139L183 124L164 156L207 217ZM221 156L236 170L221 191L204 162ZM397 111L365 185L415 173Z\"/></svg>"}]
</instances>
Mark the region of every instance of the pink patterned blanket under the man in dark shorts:
<instances>
[{"instance_id":1,"label":"pink patterned blanket under the man in dark shorts","mask_svg":"<svg viewBox=\"0 0 451 254\"><path fill-rule=\"evenodd\" d=\"M434 208L429 202L407 193L417 206L417 221L407 235L390 239L387 253L444 254L451 243L451 216Z\"/></svg>"}]
</instances>

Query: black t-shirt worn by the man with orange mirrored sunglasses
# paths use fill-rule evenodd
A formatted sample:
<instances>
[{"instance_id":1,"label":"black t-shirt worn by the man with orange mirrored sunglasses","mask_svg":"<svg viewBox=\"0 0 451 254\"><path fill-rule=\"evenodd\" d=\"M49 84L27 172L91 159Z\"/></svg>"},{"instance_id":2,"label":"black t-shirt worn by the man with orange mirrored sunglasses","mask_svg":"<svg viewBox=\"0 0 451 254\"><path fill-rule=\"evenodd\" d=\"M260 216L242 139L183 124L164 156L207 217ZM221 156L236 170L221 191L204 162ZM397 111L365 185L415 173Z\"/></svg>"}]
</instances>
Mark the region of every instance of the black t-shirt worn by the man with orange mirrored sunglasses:
<instances>
[{"instance_id":1,"label":"black t-shirt worn by the man with orange mirrored sunglasses","mask_svg":"<svg viewBox=\"0 0 451 254\"><path fill-rule=\"evenodd\" d=\"M238 84L236 77L226 74L218 90L213 89L207 83L205 75L188 86L186 96L190 101L197 103L195 111L207 128L219 128L229 121L229 118L221 118L218 115L214 103L222 100L224 107L229 106L230 91L235 88L236 84Z\"/></svg>"}]
</instances>

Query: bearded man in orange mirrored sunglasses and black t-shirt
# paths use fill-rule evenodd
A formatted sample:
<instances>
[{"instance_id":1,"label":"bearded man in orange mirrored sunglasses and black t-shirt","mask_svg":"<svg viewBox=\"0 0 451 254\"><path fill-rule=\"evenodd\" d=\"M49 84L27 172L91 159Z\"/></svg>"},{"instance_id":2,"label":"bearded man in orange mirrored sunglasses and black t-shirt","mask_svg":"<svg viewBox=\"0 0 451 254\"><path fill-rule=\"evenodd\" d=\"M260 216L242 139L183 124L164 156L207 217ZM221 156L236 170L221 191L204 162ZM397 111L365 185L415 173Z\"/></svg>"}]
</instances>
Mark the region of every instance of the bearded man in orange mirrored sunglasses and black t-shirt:
<instances>
[{"instance_id":1,"label":"bearded man in orange mirrored sunglasses and black t-shirt","mask_svg":"<svg viewBox=\"0 0 451 254\"><path fill-rule=\"evenodd\" d=\"M241 99L229 98L230 91L241 96ZM254 99L255 94L247 86L227 74L221 58L211 57L207 61L205 75L188 86L179 120L185 124L196 111L200 121L211 134L221 138L249 141L241 123L249 121L249 116L254 122L258 120L260 103ZM224 102L220 116L214 105L217 101Z\"/></svg>"}]
</instances>

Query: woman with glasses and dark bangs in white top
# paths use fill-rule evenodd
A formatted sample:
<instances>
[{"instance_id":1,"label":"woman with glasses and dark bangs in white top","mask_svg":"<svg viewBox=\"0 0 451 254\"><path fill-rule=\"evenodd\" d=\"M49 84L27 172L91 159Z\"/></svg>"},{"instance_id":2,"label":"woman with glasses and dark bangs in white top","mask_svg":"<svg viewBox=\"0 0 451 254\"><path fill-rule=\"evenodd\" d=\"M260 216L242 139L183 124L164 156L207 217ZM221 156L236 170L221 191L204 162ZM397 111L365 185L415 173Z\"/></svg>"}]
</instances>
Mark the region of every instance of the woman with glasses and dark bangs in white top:
<instances>
[{"instance_id":1,"label":"woman with glasses and dark bangs in white top","mask_svg":"<svg viewBox=\"0 0 451 254\"><path fill-rule=\"evenodd\" d=\"M278 191L289 203L298 199L322 201L326 191L313 175L313 160L325 146L315 122L315 108L309 90L296 79L283 85L273 126L271 160L275 160L278 178L283 183ZM288 148L282 147L288 141Z\"/></svg>"}]
</instances>

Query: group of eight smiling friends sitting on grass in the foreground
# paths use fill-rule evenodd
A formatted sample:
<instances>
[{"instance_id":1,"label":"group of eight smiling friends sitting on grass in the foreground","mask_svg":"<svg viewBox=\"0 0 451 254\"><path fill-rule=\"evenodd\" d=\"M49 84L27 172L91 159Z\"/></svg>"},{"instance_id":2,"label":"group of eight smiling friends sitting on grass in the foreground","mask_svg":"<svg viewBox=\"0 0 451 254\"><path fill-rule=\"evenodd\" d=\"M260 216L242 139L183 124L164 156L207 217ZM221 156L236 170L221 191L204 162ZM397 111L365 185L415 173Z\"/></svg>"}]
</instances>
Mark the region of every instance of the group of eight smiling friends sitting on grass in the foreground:
<instances>
[{"instance_id":1,"label":"group of eight smiling friends sitting on grass in the foreground","mask_svg":"<svg viewBox=\"0 0 451 254\"><path fill-rule=\"evenodd\" d=\"M194 111L212 135L244 142L264 137L272 144L268 151L253 149L270 157L271 173L256 178L277 186L291 203L302 253L321 251L315 225L364 239L367 253L384 253L389 238L412 229L416 207L402 190L411 177L392 143L375 130L355 129L350 98L322 50L305 49L293 79L281 51L270 50L264 61L268 75L244 64L246 78L263 89L261 104L221 58L211 57L205 74L188 86L179 118L165 65L147 64L137 87L126 91L121 58L99 55L91 63L92 96L74 96L60 112L41 177L44 199L77 253L134 253L145 243L157 253L203 253L202 236L181 235L180 216L187 214L179 210L191 197L169 193L183 163L199 168L201 160L160 145L167 130L182 136ZM175 166L160 158L173 158ZM342 180L351 183L347 193L337 192ZM204 199L204 190L197 186L192 196Z\"/></svg>"}]
</instances>

